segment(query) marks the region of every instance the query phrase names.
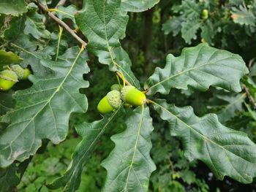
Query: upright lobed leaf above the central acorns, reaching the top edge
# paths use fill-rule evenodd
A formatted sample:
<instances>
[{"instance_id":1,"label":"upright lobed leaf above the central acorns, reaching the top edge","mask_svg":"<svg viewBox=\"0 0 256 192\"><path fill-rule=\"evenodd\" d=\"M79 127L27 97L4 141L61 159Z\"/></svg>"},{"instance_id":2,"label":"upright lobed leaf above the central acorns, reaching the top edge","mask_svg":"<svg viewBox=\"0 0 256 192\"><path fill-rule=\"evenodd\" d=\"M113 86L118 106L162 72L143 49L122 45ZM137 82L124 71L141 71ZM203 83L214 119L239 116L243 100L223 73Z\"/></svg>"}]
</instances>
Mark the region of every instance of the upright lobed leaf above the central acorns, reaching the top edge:
<instances>
[{"instance_id":1,"label":"upright lobed leaf above the central acorns, reaching the top edge","mask_svg":"<svg viewBox=\"0 0 256 192\"><path fill-rule=\"evenodd\" d=\"M119 42L125 37L128 21L127 12L121 10L121 0L83 1L83 10L75 15L75 21L89 40L87 48L97 55L99 62L109 65L110 71L121 71L132 85L139 87L129 57ZM125 59L118 55L125 55Z\"/></svg>"}]
</instances>

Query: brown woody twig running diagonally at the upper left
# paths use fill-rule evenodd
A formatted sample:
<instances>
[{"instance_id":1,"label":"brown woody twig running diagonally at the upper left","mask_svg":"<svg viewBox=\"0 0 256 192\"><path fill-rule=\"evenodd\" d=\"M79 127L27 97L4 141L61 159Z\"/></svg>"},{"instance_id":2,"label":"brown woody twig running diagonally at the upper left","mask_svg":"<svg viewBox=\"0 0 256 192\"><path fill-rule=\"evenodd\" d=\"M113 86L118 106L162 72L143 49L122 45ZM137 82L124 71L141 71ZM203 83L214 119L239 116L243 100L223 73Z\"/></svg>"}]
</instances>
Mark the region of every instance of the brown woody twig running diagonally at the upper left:
<instances>
[{"instance_id":1,"label":"brown woody twig running diagonally at the upper left","mask_svg":"<svg viewBox=\"0 0 256 192\"><path fill-rule=\"evenodd\" d=\"M83 45L83 47L86 47L87 43L84 42L83 39L81 39L80 37L78 37L78 35L75 34L75 31L73 31L71 28L69 28L69 26L67 26L66 23L64 23L62 20L60 20L59 18L57 18L55 15L53 15L53 13L48 12L48 9L45 9L45 7L44 7L42 4L38 3L38 7L39 7L39 9L42 9L44 12L46 12L46 13L49 15L50 18L52 18L53 20L56 21L56 23L58 23L60 26L62 26L63 28L65 28L65 29L69 32L69 34L72 35L72 37L74 37L75 39L77 39L78 42L80 42L80 44Z\"/></svg>"}]
</instances>

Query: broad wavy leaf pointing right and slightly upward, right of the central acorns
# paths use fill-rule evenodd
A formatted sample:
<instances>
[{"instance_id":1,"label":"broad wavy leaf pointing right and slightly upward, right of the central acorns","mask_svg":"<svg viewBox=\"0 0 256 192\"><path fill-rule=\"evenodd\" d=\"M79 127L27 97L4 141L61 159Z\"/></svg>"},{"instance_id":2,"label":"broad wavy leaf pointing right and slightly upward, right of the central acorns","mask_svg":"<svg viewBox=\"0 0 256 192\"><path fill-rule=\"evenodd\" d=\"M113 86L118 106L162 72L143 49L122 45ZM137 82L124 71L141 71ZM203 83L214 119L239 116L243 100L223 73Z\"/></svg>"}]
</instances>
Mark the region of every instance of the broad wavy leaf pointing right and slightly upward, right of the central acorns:
<instances>
[{"instance_id":1,"label":"broad wavy leaf pointing right and slightly upward, right of the central acorns","mask_svg":"<svg viewBox=\"0 0 256 192\"><path fill-rule=\"evenodd\" d=\"M157 67L144 88L149 95L167 94L171 88L187 89L188 85L201 91L214 85L239 92L239 80L248 72L241 56L203 43L184 48L177 58L167 55L165 68Z\"/></svg>"}]
</instances>

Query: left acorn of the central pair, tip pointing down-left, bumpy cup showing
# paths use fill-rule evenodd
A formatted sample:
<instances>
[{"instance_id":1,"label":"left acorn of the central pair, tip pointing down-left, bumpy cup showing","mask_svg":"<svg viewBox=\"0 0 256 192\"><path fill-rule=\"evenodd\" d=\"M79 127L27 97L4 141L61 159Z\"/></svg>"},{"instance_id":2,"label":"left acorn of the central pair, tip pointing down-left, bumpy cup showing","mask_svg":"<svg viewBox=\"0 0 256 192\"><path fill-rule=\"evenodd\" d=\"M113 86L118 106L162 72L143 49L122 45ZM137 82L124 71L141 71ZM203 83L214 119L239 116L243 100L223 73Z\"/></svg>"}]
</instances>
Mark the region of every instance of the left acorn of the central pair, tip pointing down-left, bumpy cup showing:
<instances>
[{"instance_id":1,"label":"left acorn of the central pair, tip pointing down-left, bumpy cup showing","mask_svg":"<svg viewBox=\"0 0 256 192\"><path fill-rule=\"evenodd\" d=\"M99 101L97 109L100 113L105 114L118 109L121 104L122 101L120 92L113 90L108 92L107 96L103 97L103 99Z\"/></svg>"}]
</instances>

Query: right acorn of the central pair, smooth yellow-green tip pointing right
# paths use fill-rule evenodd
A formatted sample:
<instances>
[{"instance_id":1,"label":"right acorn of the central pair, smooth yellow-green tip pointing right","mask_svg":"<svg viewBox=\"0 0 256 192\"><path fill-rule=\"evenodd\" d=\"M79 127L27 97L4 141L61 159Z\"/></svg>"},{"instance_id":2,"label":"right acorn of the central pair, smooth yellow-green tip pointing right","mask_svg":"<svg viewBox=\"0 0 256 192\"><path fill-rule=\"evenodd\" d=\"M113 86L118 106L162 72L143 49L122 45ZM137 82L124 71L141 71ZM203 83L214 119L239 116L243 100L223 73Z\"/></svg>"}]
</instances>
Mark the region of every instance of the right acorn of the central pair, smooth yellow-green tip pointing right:
<instances>
[{"instance_id":1,"label":"right acorn of the central pair, smooth yellow-green tip pointing right","mask_svg":"<svg viewBox=\"0 0 256 192\"><path fill-rule=\"evenodd\" d=\"M145 94L132 85L127 85L121 90L121 99L135 107L146 103Z\"/></svg>"}]
</instances>

